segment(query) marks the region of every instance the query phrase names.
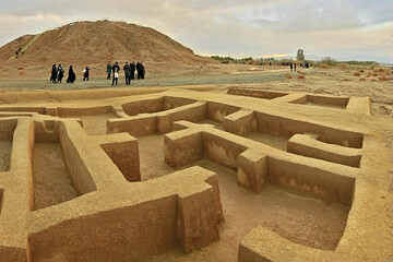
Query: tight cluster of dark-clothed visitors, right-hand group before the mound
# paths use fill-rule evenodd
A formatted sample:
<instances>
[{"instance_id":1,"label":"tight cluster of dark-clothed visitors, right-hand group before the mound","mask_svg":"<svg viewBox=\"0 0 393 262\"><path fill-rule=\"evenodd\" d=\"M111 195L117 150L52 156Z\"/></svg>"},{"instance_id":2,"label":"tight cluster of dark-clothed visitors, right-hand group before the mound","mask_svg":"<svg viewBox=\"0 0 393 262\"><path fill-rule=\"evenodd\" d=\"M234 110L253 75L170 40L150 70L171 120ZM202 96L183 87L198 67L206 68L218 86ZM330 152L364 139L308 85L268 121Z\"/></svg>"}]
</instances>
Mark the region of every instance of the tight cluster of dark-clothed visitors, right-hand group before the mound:
<instances>
[{"instance_id":1,"label":"tight cluster of dark-clothed visitors, right-hand group before the mound","mask_svg":"<svg viewBox=\"0 0 393 262\"><path fill-rule=\"evenodd\" d=\"M126 62L124 67L123 67L123 71L124 71L124 76L126 76L126 85L130 85L131 84L131 80L135 79L135 70L138 73L138 79L144 79L145 75L145 68L143 62L132 62L132 63L128 63ZM117 85L118 84L118 80L119 80L119 72L120 72L120 66L119 62L115 62L114 66L110 64L110 61L108 61L107 64L107 79L110 80L110 74L112 74L112 85Z\"/></svg>"}]
</instances>

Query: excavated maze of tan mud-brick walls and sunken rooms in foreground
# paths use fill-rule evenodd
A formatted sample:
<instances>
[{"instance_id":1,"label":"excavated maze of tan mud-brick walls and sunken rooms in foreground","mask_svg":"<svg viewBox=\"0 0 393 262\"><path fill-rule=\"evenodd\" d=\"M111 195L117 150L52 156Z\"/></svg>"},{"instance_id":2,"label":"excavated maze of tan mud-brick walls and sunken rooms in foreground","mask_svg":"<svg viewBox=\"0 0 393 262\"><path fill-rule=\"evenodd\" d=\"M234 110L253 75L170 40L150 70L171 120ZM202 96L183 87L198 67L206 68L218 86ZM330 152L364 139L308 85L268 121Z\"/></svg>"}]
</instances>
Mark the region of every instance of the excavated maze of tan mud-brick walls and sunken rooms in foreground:
<instances>
[{"instance_id":1,"label":"excavated maze of tan mud-brick walls and sunken rooms in foreground","mask_svg":"<svg viewBox=\"0 0 393 262\"><path fill-rule=\"evenodd\" d=\"M0 105L1 262L393 261L368 97L78 92Z\"/></svg>"}]
</instances>

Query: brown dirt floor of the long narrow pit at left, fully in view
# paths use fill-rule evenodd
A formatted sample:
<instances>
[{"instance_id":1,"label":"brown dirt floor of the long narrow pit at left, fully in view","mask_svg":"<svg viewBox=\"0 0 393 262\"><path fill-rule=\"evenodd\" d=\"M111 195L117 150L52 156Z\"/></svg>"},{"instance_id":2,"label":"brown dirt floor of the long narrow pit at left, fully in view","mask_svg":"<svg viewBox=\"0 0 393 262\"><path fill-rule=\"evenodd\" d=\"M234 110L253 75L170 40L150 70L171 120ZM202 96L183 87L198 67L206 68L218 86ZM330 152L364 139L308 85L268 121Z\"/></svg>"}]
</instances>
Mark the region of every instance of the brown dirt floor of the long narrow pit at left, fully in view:
<instances>
[{"instance_id":1,"label":"brown dirt floor of the long narrow pit at left, fully in view","mask_svg":"<svg viewBox=\"0 0 393 262\"><path fill-rule=\"evenodd\" d=\"M34 207L45 209L76 198L60 144L36 143L33 153Z\"/></svg>"}]
</instances>

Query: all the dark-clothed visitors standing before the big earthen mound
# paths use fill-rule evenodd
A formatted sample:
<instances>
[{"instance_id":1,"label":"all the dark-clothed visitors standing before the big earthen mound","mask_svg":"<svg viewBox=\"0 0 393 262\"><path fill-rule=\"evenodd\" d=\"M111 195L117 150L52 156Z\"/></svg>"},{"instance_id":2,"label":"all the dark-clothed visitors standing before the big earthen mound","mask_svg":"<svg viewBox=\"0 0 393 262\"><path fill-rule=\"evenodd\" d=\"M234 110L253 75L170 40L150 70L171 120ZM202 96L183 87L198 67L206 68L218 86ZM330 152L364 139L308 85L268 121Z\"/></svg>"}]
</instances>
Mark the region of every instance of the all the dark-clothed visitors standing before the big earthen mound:
<instances>
[{"instance_id":1,"label":"all the dark-clothed visitors standing before the big earthen mound","mask_svg":"<svg viewBox=\"0 0 393 262\"><path fill-rule=\"evenodd\" d=\"M145 68L143 62L132 62L128 63L126 62L123 67L124 76L126 76L126 85L131 84L131 80L135 79L135 70L138 73L138 79L144 79L145 75ZM110 80L110 75L112 74L112 85L118 84L119 80L119 72L120 72L120 66L118 62L116 62L114 66L110 64L110 61L107 64L107 79ZM62 79L64 78L64 70L61 67L61 63L56 67L56 64L52 66L51 74L50 74L50 82L52 83L61 83ZM90 68L86 67L83 69L83 81L88 81L90 78ZM75 72L72 69L72 66L70 66L69 74L67 79L67 83L73 83L76 80Z\"/></svg>"}]
</instances>

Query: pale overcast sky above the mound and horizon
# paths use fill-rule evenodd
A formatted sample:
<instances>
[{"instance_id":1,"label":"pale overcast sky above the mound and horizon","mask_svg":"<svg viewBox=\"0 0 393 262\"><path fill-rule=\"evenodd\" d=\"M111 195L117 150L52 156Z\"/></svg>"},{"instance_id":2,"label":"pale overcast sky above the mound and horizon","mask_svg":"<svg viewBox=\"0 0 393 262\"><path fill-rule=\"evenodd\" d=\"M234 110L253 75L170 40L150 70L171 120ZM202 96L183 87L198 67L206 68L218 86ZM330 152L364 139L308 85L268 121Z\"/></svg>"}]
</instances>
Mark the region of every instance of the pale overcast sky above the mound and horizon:
<instances>
[{"instance_id":1,"label":"pale overcast sky above the mound and horizon","mask_svg":"<svg viewBox=\"0 0 393 262\"><path fill-rule=\"evenodd\" d=\"M153 27L200 55L393 62L392 0L0 0L0 46L78 20ZM309 57L310 58L310 57Z\"/></svg>"}]
</instances>

